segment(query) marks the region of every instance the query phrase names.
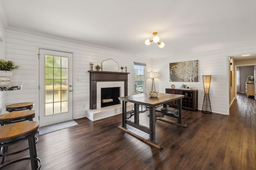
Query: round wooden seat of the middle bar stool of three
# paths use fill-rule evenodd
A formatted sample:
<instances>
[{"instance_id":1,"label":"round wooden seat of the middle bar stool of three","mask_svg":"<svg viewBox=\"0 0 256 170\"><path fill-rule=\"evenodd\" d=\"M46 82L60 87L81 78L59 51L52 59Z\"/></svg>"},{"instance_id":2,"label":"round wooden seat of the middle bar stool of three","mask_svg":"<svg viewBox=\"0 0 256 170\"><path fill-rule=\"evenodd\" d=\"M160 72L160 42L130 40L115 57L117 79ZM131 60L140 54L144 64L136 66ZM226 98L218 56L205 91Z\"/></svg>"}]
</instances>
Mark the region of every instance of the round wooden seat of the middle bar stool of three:
<instances>
[{"instance_id":1,"label":"round wooden seat of the middle bar stool of three","mask_svg":"<svg viewBox=\"0 0 256 170\"><path fill-rule=\"evenodd\" d=\"M21 110L0 115L0 122L12 123L12 121L32 120L36 116L35 110Z\"/></svg>"}]
</instances>

